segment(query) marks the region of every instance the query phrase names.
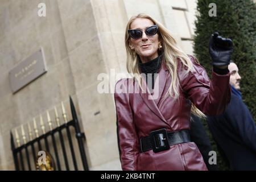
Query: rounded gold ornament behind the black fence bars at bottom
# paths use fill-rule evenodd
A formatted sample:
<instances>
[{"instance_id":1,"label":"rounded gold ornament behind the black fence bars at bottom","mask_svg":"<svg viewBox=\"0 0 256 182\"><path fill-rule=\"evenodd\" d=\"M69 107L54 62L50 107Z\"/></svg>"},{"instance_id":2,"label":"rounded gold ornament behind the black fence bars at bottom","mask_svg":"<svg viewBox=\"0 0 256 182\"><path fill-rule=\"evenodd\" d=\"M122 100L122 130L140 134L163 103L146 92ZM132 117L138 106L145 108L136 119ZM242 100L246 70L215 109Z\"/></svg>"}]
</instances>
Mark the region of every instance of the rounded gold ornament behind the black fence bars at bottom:
<instances>
[{"instance_id":1,"label":"rounded gold ornament behind the black fence bars at bottom","mask_svg":"<svg viewBox=\"0 0 256 182\"><path fill-rule=\"evenodd\" d=\"M37 171L55 171L55 163L54 160L52 158L52 155L49 154L49 152L46 152L46 156L45 156L45 164L40 164L39 165L39 158L41 158L42 156L37 156L36 158L36 170Z\"/></svg>"}]
</instances>

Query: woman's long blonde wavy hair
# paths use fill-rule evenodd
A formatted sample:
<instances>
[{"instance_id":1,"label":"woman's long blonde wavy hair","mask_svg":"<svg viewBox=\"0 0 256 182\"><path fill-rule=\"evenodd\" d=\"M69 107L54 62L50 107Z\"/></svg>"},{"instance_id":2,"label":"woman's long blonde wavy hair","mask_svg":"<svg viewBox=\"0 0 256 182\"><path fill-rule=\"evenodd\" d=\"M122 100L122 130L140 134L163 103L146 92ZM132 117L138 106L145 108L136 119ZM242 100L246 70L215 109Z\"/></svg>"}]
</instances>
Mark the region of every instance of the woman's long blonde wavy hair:
<instances>
[{"instance_id":1,"label":"woman's long blonde wavy hair","mask_svg":"<svg viewBox=\"0 0 256 182\"><path fill-rule=\"evenodd\" d=\"M163 61L165 61L168 71L172 77L170 88L168 92L171 97L175 99L179 98L179 90L178 86L179 79L177 76L177 59L183 63L184 66L188 67L187 72L192 71L193 65L188 55L186 55L178 46L175 39L171 36L170 32L165 28L161 23L157 22L155 19L151 18L147 14L138 14L136 16L132 16L127 23L126 33L125 33L125 47L127 54L127 62L126 68L129 73L133 73L135 79L138 81L139 86L141 86L141 75L139 73L139 56L137 53L134 53L129 46L130 35L128 34L128 30L130 29L131 23L137 18L146 18L150 19L154 24L157 24L159 27L159 40L162 43L163 47ZM142 86L141 86L142 87ZM199 117L204 117L204 113L202 113L195 105L192 104L191 112Z\"/></svg>"}]
</instances>

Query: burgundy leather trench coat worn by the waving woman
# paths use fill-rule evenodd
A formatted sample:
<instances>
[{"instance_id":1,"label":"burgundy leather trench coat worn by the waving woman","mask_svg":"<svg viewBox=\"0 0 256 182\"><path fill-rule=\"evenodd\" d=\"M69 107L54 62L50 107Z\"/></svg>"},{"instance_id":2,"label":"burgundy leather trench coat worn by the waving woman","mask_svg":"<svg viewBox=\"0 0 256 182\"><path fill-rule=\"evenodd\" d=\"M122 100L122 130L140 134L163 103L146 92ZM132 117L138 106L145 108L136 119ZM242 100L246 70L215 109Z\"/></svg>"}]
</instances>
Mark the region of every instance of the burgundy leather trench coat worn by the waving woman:
<instances>
[{"instance_id":1,"label":"burgundy leather trench coat worn by the waving woman","mask_svg":"<svg viewBox=\"0 0 256 182\"><path fill-rule=\"evenodd\" d=\"M148 99L148 92L123 93L124 89L137 89L138 83L131 81L132 78L122 78L115 85L118 147L123 170L207 170L194 142L174 144L169 150L157 153L141 152L139 146L139 138L147 137L154 130L189 130L191 102L207 115L222 113L229 103L230 73L218 75L213 72L210 81L205 69L189 57L195 69L188 73L177 59L180 82L177 100L170 95L164 98L171 83L164 61L158 75L159 97L155 100Z\"/></svg>"}]
</instances>

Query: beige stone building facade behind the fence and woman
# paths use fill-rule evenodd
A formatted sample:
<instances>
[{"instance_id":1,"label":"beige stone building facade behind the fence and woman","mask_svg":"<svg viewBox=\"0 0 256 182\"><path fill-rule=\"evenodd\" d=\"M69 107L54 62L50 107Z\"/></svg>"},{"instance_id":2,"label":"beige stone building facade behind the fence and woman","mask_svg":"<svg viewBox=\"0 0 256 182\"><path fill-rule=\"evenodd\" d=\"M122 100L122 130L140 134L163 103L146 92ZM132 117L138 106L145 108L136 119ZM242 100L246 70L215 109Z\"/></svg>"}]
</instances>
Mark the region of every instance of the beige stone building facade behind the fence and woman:
<instances>
[{"instance_id":1,"label":"beige stone building facade behind the fence and woman","mask_svg":"<svg viewBox=\"0 0 256 182\"><path fill-rule=\"evenodd\" d=\"M100 73L126 72L124 35L132 15L147 13L193 53L196 0L0 0L0 170L13 170L10 131L53 118L61 101L75 101L90 170L119 170L113 94L100 94ZM46 17L38 4L46 4ZM40 47L47 73L16 93L9 72ZM62 121L63 122L63 121ZM39 124L38 124L39 125ZM28 134L26 132L26 136ZM80 163L81 165L81 163Z\"/></svg>"}]
</instances>

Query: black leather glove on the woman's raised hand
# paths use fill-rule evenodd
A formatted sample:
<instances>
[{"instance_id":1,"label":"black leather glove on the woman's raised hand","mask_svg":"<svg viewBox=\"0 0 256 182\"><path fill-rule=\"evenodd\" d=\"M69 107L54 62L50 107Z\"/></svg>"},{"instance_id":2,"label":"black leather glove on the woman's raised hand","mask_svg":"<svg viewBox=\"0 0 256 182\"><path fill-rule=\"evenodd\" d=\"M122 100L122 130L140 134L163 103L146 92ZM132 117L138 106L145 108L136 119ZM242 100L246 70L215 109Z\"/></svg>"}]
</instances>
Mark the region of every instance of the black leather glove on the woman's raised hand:
<instances>
[{"instance_id":1,"label":"black leather glove on the woman's raised hand","mask_svg":"<svg viewBox=\"0 0 256 182\"><path fill-rule=\"evenodd\" d=\"M232 52L233 42L231 39L222 38L218 32L214 32L210 36L209 53L214 66L229 65Z\"/></svg>"}]
</instances>

